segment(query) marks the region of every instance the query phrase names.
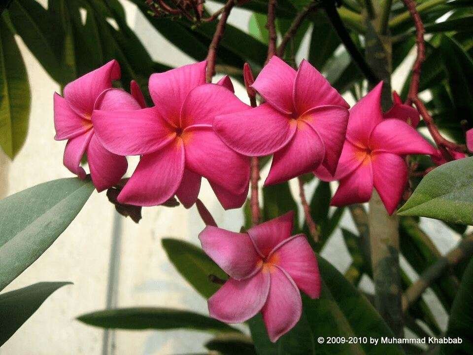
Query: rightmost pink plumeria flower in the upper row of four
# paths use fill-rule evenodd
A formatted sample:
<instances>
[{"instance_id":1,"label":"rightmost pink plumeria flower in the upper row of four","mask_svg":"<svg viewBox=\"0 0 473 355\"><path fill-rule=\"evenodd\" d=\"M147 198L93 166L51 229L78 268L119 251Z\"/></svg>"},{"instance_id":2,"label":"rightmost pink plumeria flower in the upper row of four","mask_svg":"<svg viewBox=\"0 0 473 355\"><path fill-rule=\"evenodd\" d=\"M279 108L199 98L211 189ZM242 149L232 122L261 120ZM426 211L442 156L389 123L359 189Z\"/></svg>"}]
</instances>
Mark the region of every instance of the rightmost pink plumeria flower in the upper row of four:
<instances>
[{"instance_id":1,"label":"rightmost pink plumeria flower in the upper row of four","mask_svg":"<svg viewBox=\"0 0 473 355\"><path fill-rule=\"evenodd\" d=\"M435 148L406 122L384 119L380 82L350 109L346 141L335 180L340 180L332 198L333 206L368 202L373 187L389 214L402 198L408 171L407 154L435 154ZM333 180L327 171L314 172L325 181Z\"/></svg>"}]
</instances>

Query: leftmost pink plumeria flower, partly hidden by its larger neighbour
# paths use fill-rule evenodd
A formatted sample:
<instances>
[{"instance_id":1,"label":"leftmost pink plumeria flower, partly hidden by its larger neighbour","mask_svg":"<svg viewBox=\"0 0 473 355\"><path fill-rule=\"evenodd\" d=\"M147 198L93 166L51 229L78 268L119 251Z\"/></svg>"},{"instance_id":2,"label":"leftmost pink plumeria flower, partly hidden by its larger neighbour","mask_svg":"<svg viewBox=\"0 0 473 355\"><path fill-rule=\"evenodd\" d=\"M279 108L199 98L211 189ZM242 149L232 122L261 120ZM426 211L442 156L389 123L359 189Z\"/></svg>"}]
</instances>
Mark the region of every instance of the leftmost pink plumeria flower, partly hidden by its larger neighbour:
<instances>
[{"instance_id":1,"label":"leftmost pink plumeria flower, partly hidden by its larger neighbour","mask_svg":"<svg viewBox=\"0 0 473 355\"><path fill-rule=\"evenodd\" d=\"M118 78L120 66L112 60L66 85L64 97L54 94L54 139L68 140L64 150L64 165L84 179L86 174L80 161L87 153L92 181L98 191L117 183L127 171L128 164L124 156L109 152L99 142L92 122L94 109L114 111L141 108L132 95L112 88L112 80Z\"/></svg>"}]
</instances>

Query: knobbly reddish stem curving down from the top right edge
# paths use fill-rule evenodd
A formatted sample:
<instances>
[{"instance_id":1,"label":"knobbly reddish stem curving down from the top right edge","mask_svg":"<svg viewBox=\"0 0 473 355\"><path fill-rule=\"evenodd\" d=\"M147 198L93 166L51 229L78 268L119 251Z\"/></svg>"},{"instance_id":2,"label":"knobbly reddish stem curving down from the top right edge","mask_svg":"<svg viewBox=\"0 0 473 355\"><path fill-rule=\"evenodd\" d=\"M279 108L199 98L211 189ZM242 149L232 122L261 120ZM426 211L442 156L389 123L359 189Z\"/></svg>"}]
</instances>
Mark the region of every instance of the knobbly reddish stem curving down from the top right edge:
<instances>
[{"instance_id":1,"label":"knobbly reddish stem curving down from the top right edge","mask_svg":"<svg viewBox=\"0 0 473 355\"><path fill-rule=\"evenodd\" d=\"M410 79L409 84L409 92L407 96L406 104L414 104L417 107L420 115L424 119L424 122L429 129L429 132L434 139L434 142L439 147L440 152L442 153L443 157L447 160L453 160L452 154L447 150L451 149L454 151L459 152L466 152L467 146L465 144L457 144L454 142L450 142L447 139L443 138L439 132L438 127L434 123L432 116L429 114L427 107L425 107L424 103L419 99L419 82L420 82L420 74L422 70L422 63L425 60L425 42L424 42L424 24L422 23L422 19L420 14L415 6L415 1L413 0L403 0L405 6L407 7L412 20L414 21L414 26L416 30L416 44L417 44L417 57L415 62L412 66L412 76Z\"/></svg>"}]
</instances>

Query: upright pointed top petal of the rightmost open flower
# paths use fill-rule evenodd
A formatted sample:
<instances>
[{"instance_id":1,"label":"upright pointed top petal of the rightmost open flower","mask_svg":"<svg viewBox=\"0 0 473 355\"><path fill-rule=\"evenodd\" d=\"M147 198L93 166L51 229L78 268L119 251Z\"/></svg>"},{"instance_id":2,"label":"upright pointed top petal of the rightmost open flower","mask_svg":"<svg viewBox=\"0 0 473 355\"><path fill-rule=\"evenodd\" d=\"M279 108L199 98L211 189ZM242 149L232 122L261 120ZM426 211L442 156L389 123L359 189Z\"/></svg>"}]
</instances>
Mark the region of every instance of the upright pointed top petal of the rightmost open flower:
<instances>
[{"instance_id":1,"label":"upright pointed top petal of the rightmost open flower","mask_svg":"<svg viewBox=\"0 0 473 355\"><path fill-rule=\"evenodd\" d=\"M356 145L367 145L371 132L383 120L381 91L383 82L372 89L363 99L350 108L346 138Z\"/></svg>"}]
</instances>

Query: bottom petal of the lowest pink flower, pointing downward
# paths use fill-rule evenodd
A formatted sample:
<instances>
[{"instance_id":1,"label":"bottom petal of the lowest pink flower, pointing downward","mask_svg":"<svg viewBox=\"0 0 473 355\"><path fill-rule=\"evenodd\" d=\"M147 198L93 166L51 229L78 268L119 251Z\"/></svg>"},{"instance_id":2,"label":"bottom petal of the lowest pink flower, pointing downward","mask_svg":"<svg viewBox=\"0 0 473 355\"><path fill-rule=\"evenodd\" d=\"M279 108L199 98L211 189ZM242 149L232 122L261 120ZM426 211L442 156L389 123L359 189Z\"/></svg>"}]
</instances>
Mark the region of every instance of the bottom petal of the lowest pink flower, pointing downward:
<instances>
[{"instance_id":1,"label":"bottom petal of the lowest pink flower, pointing downward","mask_svg":"<svg viewBox=\"0 0 473 355\"><path fill-rule=\"evenodd\" d=\"M275 266L270 275L270 293L261 312L270 340L274 343L300 320L302 299L296 284L284 270Z\"/></svg>"}]
</instances>

